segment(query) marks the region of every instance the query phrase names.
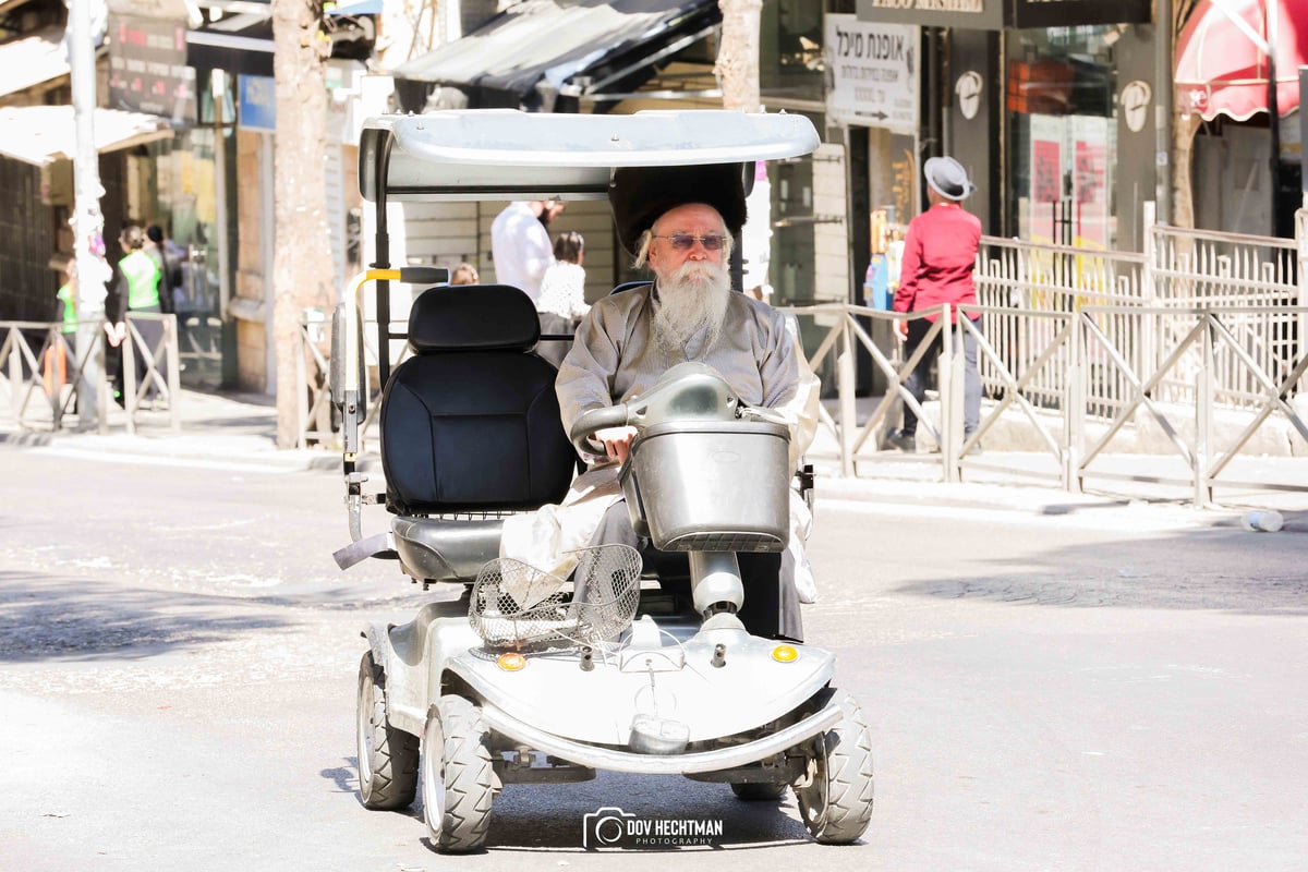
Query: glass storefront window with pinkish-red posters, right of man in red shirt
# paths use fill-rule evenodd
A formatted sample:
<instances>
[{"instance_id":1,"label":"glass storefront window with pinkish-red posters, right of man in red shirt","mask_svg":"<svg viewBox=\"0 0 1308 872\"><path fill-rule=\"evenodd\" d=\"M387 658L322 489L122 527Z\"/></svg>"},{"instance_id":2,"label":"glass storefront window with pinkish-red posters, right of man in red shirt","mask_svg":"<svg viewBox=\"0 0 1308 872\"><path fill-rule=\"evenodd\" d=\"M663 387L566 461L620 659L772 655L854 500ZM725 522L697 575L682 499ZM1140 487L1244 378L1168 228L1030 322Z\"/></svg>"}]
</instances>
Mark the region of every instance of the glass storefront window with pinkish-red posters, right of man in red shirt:
<instances>
[{"instance_id":1,"label":"glass storefront window with pinkish-red posters, right of man in red shirt","mask_svg":"<svg viewBox=\"0 0 1308 872\"><path fill-rule=\"evenodd\" d=\"M1117 26L1007 33L1006 226L1022 239L1114 247Z\"/></svg>"}]
</instances>

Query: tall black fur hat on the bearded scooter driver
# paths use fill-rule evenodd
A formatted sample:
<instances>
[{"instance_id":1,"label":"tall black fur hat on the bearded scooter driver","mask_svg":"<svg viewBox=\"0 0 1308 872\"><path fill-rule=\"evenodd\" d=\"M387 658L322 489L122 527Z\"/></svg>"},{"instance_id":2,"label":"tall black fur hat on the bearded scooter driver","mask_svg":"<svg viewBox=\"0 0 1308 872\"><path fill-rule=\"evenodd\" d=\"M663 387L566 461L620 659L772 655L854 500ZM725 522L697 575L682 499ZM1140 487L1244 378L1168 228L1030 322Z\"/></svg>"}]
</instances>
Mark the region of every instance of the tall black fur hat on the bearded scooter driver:
<instances>
[{"instance_id":1,"label":"tall black fur hat on the bearded scooter driver","mask_svg":"<svg viewBox=\"0 0 1308 872\"><path fill-rule=\"evenodd\" d=\"M687 203L706 203L717 209L727 231L739 239L746 193L742 163L621 167L608 183L617 238L629 254L636 254L641 234L664 212Z\"/></svg>"}]
</instances>

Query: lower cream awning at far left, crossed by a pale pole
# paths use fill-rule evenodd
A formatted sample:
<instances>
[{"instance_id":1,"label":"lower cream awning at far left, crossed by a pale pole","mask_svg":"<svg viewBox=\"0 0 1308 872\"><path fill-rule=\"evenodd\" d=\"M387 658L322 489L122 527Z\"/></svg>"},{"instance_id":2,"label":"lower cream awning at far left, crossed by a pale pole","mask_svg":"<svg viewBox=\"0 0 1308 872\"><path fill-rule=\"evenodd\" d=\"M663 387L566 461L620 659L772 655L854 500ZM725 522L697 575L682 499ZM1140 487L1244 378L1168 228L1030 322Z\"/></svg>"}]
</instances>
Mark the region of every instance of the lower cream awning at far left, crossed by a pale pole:
<instances>
[{"instance_id":1,"label":"lower cream awning at far left, crossed by a pale pole","mask_svg":"<svg viewBox=\"0 0 1308 872\"><path fill-rule=\"evenodd\" d=\"M7 106L0 109L0 156L24 163L44 166L77 153L72 106ZM95 150L102 154L171 136L166 118L95 110Z\"/></svg>"}]
</instances>

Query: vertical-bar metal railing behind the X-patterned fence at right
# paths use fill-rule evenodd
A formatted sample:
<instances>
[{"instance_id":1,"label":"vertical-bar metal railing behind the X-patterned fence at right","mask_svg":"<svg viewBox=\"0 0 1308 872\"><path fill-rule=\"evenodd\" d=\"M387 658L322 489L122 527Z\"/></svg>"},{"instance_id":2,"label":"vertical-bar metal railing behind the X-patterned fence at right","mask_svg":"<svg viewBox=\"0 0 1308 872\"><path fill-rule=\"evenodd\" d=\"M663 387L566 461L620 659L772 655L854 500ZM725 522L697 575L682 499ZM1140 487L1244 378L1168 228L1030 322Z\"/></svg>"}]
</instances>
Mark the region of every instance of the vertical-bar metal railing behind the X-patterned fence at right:
<instances>
[{"instance_id":1,"label":"vertical-bar metal railing behind the X-patterned fence at right","mask_svg":"<svg viewBox=\"0 0 1308 872\"><path fill-rule=\"evenodd\" d=\"M1201 362L1198 349L1189 348L1155 392L1159 399L1193 403L1197 373L1210 366L1220 373L1215 403L1257 409L1261 386L1243 357L1252 357L1265 373L1286 373L1301 337L1308 337L1308 318L1290 309L1308 306L1308 212L1296 213L1295 234L1295 239L1283 239L1172 227L1156 224L1152 208L1146 208L1141 254L984 237L974 275L977 301L989 307L985 335L1020 370L1023 361L1035 360L1044 349L1049 336L1042 331L1049 326L1006 310L1076 312L1107 306L1099 316L1121 323L1103 327L1117 337L1118 353L1143 370L1160 363L1185 332L1176 332L1177 323L1165 311L1121 320L1121 307L1237 309L1239 318L1227 322L1237 341L1223 344L1207 362ZM1118 367L1108 365L1103 349L1088 354L1088 370L1099 373L1088 400L1108 413L1127 401L1129 384ZM1117 375L1109 375L1113 373ZM989 388L998 387L989 362L981 378ZM1059 386L1048 377L1031 384L1035 403L1052 403L1058 394Z\"/></svg>"}]
</instances>

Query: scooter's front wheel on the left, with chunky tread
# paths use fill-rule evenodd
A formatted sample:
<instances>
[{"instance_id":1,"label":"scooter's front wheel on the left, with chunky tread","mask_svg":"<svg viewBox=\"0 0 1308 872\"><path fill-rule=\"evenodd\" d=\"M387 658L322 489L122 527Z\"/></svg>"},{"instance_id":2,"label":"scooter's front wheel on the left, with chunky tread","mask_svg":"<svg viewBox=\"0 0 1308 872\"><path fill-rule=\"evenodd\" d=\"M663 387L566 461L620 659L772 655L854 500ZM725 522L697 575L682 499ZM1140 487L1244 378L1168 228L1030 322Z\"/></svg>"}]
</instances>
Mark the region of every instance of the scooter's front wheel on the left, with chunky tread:
<instances>
[{"instance_id":1,"label":"scooter's front wheel on the left, with chunky tread","mask_svg":"<svg viewBox=\"0 0 1308 872\"><path fill-rule=\"evenodd\" d=\"M481 709L445 696L428 714L422 735L422 808L432 843L447 854L485 846L490 831L494 770Z\"/></svg>"}]
</instances>

